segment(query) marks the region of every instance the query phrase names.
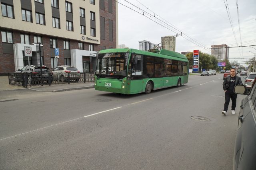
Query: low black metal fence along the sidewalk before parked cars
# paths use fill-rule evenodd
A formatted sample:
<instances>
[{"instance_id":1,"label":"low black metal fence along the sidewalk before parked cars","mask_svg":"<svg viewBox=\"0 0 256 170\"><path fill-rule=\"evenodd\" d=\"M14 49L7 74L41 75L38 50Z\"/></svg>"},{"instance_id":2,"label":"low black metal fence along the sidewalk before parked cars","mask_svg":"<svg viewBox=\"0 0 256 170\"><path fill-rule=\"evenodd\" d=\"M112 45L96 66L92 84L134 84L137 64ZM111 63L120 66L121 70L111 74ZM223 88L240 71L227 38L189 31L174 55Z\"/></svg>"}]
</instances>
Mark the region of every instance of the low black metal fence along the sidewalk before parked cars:
<instances>
[{"instance_id":1,"label":"low black metal fence along the sidewalk before parked cars","mask_svg":"<svg viewBox=\"0 0 256 170\"><path fill-rule=\"evenodd\" d=\"M15 86L38 86L75 82L94 82L94 73L9 73L9 84Z\"/></svg>"}]
</instances>

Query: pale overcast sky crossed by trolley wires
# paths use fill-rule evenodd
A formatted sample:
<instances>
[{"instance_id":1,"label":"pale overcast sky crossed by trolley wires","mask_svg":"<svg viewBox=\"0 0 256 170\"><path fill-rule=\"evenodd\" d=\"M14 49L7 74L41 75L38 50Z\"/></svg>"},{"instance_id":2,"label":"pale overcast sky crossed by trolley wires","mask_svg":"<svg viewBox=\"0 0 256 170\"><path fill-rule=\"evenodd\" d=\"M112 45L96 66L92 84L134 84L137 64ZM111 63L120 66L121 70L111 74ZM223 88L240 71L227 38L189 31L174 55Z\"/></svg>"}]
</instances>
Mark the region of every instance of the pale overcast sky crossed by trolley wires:
<instances>
[{"instance_id":1,"label":"pale overcast sky crossed by trolley wires","mask_svg":"<svg viewBox=\"0 0 256 170\"><path fill-rule=\"evenodd\" d=\"M118 0L118 2L118 44L138 49L138 41L146 40L159 44L161 37L178 34L176 37L178 53L199 49L203 53L211 54L211 45L226 44L229 47L255 45L252 46L255 49L230 48L229 61L238 61L243 66L247 65L248 58L256 55L256 0ZM182 35L179 35L181 32Z\"/></svg>"}]
</instances>

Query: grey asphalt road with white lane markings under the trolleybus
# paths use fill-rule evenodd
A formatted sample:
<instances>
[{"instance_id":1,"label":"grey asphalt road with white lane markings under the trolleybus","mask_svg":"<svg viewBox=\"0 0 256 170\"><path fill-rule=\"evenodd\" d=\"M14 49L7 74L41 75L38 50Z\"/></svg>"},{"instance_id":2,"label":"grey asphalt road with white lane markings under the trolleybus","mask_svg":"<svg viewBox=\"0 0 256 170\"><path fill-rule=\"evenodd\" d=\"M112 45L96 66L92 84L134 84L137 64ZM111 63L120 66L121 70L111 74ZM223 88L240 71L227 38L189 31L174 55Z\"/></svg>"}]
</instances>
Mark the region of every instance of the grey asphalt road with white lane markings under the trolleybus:
<instances>
[{"instance_id":1,"label":"grey asphalt road with white lane markings under the trolleybus","mask_svg":"<svg viewBox=\"0 0 256 170\"><path fill-rule=\"evenodd\" d=\"M222 76L148 95L10 94L0 102L0 169L232 169L245 96L236 115L222 115Z\"/></svg>"}]
</instances>

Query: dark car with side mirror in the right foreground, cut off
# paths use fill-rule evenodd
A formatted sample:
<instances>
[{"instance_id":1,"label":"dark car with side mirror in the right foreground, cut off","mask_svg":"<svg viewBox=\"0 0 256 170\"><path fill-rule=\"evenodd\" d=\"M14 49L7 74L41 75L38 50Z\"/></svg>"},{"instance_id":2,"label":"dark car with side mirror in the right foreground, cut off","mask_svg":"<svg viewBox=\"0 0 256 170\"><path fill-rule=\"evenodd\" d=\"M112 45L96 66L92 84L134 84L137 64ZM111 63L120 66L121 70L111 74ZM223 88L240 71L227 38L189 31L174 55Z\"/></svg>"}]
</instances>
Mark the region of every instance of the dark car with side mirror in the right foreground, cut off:
<instances>
[{"instance_id":1,"label":"dark car with side mirror in the right foreground, cut off","mask_svg":"<svg viewBox=\"0 0 256 170\"><path fill-rule=\"evenodd\" d=\"M252 84L250 93L247 93L246 86L236 85L236 94L246 94L242 99L238 114L238 130L236 132L233 169L234 170L255 170L256 169L256 80Z\"/></svg>"}]
</instances>

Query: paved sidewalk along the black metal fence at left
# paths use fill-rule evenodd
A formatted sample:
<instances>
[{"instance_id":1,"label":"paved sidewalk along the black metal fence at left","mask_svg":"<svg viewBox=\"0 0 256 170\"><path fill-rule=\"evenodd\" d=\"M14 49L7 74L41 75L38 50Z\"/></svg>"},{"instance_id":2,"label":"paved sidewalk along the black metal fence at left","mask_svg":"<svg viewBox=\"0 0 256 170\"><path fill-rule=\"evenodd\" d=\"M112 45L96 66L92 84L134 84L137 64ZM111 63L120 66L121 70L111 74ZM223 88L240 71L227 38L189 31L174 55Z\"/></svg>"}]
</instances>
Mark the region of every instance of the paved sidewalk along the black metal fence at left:
<instances>
[{"instance_id":1,"label":"paved sidewalk along the black metal fence at left","mask_svg":"<svg viewBox=\"0 0 256 170\"><path fill-rule=\"evenodd\" d=\"M94 82L86 82L86 83L70 83L70 84L45 84L44 86L28 86L28 88L24 88L22 86L13 86L9 84L8 76L0 76L0 91L6 90L20 90L20 89L29 89L39 92L64 92L70 90L81 90L94 88Z\"/></svg>"}]
</instances>

